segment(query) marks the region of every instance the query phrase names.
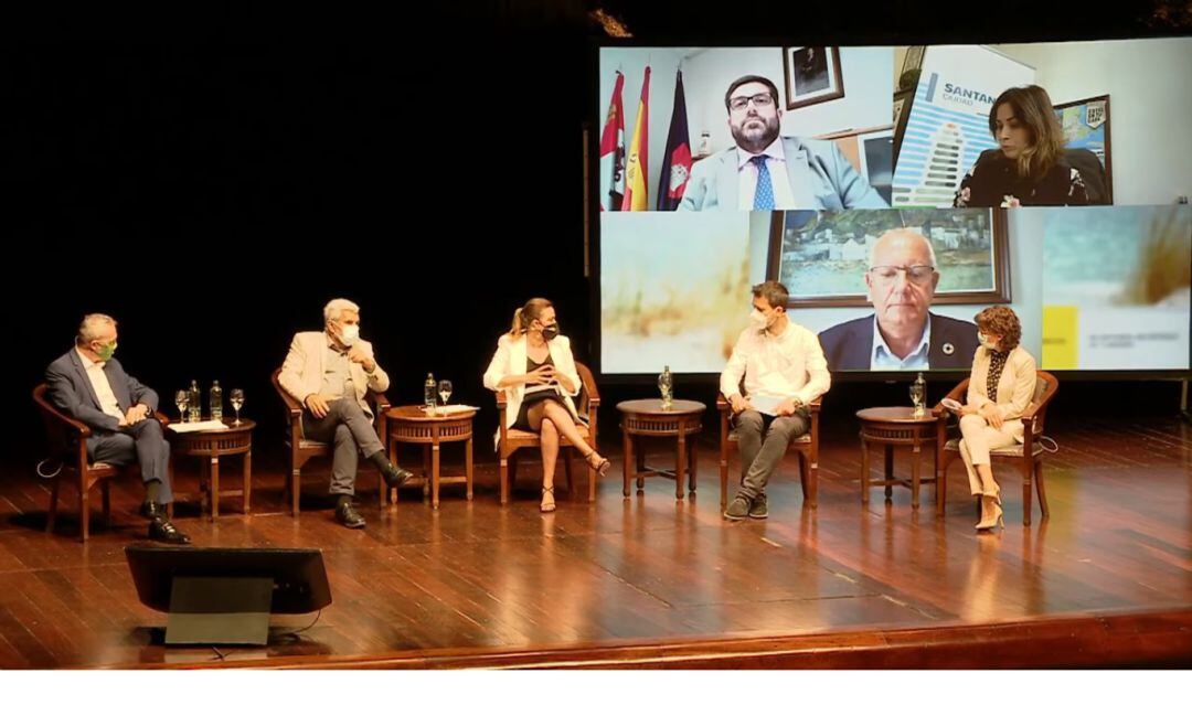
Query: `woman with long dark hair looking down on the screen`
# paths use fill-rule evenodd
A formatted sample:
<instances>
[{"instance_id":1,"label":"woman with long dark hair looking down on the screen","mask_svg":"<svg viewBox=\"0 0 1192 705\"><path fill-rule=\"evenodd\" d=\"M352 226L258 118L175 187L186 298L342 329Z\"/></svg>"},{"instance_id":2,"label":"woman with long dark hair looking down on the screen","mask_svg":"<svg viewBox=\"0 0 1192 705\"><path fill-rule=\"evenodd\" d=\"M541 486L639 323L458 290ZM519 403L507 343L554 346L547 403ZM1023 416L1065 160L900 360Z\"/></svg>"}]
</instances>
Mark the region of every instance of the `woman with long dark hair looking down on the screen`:
<instances>
[{"instance_id":1,"label":"woman with long dark hair looking down on the screen","mask_svg":"<svg viewBox=\"0 0 1192 705\"><path fill-rule=\"evenodd\" d=\"M1097 200L1073 162L1086 170L1100 169L1100 163L1088 150L1064 149L1060 118L1043 88L1010 88L999 95L989 111L989 132L998 149L981 152L961 181L954 207L1086 206Z\"/></svg>"}]
</instances>

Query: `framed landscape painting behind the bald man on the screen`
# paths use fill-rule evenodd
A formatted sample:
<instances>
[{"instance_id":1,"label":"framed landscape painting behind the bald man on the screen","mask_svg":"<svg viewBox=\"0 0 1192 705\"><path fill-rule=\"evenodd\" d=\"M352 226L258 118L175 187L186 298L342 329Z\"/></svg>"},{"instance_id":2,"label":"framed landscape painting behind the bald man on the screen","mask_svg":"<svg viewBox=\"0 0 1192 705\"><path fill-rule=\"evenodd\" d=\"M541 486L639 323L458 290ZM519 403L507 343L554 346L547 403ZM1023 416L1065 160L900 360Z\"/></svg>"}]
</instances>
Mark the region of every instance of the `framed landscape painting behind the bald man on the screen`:
<instances>
[{"instance_id":1,"label":"framed landscape painting behind the bald man on the screen","mask_svg":"<svg viewBox=\"0 0 1192 705\"><path fill-rule=\"evenodd\" d=\"M865 298L869 252L894 229L917 231L931 242L939 275L935 302L1010 302L1002 208L775 212L766 279L787 286L793 308L873 306Z\"/></svg>"}]
</instances>

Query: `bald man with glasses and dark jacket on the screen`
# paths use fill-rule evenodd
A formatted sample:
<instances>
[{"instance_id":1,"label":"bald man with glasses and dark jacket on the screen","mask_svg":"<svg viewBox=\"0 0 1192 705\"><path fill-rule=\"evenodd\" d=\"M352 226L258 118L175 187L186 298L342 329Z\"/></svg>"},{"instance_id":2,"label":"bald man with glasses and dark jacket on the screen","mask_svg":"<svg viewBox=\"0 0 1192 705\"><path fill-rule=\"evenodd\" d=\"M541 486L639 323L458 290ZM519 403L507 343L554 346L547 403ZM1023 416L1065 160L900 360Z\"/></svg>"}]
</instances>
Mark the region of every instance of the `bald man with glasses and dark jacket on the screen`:
<instances>
[{"instance_id":1,"label":"bald man with glasses and dark jacket on the screen","mask_svg":"<svg viewBox=\"0 0 1192 705\"><path fill-rule=\"evenodd\" d=\"M939 283L931 242L889 230L869 254L865 286L874 316L820 333L831 370L960 369L976 352L976 326L930 312Z\"/></svg>"}]
</instances>

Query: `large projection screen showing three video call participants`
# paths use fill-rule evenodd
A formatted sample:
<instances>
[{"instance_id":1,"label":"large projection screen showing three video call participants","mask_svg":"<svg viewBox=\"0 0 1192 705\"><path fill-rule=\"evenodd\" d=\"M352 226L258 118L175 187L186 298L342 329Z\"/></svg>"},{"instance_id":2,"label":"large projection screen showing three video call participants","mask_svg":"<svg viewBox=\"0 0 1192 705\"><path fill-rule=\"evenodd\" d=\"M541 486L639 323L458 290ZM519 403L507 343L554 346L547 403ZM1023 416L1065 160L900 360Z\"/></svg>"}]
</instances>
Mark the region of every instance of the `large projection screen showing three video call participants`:
<instances>
[{"instance_id":1,"label":"large projection screen showing three video call participants","mask_svg":"<svg viewBox=\"0 0 1192 705\"><path fill-rule=\"evenodd\" d=\"M604 374L719 373L750 287L833 372L1187 370L1192 38L603 48Z\"/></svg>"}]
</instances>

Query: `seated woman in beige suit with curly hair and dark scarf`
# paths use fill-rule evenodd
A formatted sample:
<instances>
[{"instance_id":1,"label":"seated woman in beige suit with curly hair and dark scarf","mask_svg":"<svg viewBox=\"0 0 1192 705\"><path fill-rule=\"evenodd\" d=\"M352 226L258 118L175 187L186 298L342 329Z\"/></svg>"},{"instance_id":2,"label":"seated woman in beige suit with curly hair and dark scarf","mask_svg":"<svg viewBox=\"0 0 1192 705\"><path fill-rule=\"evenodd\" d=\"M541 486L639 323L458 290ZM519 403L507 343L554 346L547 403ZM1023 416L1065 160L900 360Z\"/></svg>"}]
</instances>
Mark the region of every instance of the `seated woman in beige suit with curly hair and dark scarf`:
<instances>
[{"instance_id":1,"label":"seated woman in beige suit with curly hair and dark scarf","mask_svg":"<svg viewBox=\"0 0 1192 705\"><path fill-rule=\"evenodd\" d=\"M961 457L969 487L981 497L976 529L1001 520L1001 492L993 480L989 450L1023 442L1023 412L1035 397L1035 357L1018 342L1023 326L1006 306L991 306L975 317L981 347L973 356L968 404L961 408ZM1005 524L1002 524L1005 525Z\"/></svg>"}]
</instances>

